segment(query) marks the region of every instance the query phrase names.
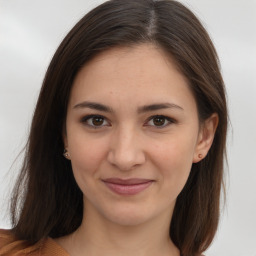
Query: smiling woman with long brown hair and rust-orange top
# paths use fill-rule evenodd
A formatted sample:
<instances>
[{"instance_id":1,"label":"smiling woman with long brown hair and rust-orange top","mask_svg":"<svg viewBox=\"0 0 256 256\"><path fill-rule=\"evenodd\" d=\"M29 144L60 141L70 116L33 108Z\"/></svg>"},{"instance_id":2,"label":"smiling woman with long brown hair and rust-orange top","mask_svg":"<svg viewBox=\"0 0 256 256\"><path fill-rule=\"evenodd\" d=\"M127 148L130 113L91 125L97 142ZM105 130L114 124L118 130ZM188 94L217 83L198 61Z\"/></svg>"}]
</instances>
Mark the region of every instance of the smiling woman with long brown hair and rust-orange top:
<instances>
[{"instance_id":1,"label":"smiling woman with long brown hair and rust-orange top","mask_svg":"<svg viewBox=\"0 0 256 256\"><path fill-rule=\"evenodd\" d=\"M201 255L226 130L217 54L193 13L105 2L47 70L0 255Z\"/></svg>"}]
</instances>

